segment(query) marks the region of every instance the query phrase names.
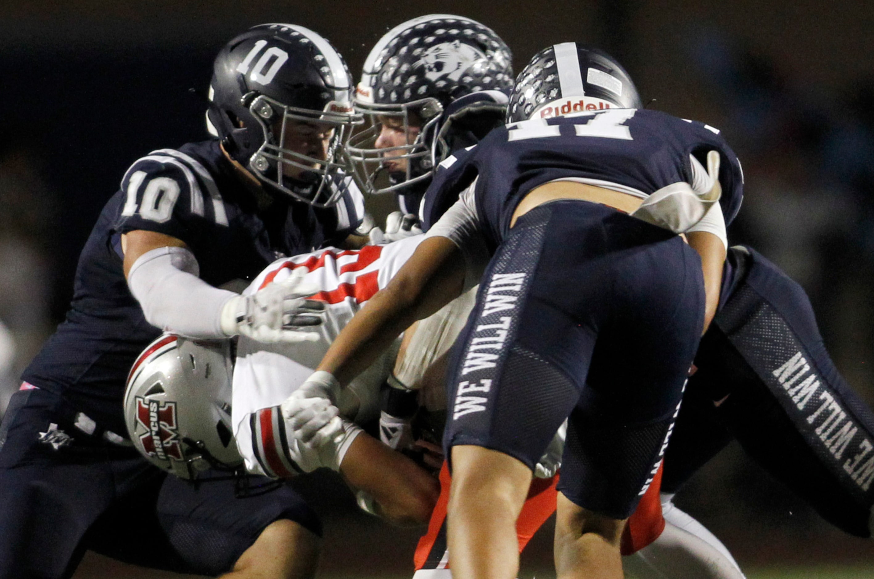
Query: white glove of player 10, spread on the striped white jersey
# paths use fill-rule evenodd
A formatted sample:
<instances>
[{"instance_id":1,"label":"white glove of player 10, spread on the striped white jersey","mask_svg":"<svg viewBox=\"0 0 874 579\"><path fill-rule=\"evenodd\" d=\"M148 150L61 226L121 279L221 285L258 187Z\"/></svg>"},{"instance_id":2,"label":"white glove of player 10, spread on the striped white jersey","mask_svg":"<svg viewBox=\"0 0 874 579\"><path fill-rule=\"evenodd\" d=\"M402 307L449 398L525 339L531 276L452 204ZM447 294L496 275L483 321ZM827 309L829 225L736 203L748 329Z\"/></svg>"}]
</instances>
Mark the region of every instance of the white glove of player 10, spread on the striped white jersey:
<instances>
[{"instance_id":1,"label":"white glove of player 10, spread on the striped white jersey","mask_svg":"<svg viewBox=\"0 0 874 579\"><path fill-rule=\"evenodd\" d=\"M221 330L228 337L239 334L266 344L316 341L315 331L300 328L323 323L324 303L306 299L318 288L302 283L304 275L295 269L288 279L250 296L233 296L222 307Z\"/></svg>"}]
</instances>

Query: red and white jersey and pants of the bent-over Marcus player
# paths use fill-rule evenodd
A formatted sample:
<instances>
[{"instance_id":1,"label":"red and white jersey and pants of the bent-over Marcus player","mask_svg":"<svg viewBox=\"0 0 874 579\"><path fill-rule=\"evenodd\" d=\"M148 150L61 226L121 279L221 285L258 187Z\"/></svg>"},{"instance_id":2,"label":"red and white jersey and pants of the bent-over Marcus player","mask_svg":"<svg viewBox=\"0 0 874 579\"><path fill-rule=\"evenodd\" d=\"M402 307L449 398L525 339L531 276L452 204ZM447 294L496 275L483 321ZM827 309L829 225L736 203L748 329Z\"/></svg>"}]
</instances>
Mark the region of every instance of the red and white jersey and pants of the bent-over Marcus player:
<instances>
[{"instance_id":1,"label":"red and white jersey and pants of the bent-over Marcus player","mask_svg":"<svg viewBox=\"0 0 874 579\"><path fill-rule=\"evenodd\" d=\"M367 246L359 250L323 249L311 254L278 260L255 278L244 293L251 294L267 285L281 282L293 270L306 268L304 283L313 283L320 291L316 299L326 303L324 324L313 328L320 338L315 342L297 344L261 344L240 337L237 362L233 373L232 422L240 455L246 460L246 469L264 474L254 457L249 417L261 408L281 404L304 380L309 378L322 361L329 345L349 323L358 310L378 290L385 287L406 262L422 236L417 235L385 246ZM378 392L394 365L395 348L386 352L366 372L343 388L337 406L341 413L355 422L365 422L379 414ZM555 485L558 476L536 478L529 499L518 523L519 548L555 510ZM449 476L445 466L440 473L441 496L432 515L428 533L422 537L416 550L416 577L450 577L446 550L446 503ZM659 485L651 485L637 512L629 520L622 551L628 555L649 544L662 531L661 506L658 502Z\"/></svg>"}]
</instances>

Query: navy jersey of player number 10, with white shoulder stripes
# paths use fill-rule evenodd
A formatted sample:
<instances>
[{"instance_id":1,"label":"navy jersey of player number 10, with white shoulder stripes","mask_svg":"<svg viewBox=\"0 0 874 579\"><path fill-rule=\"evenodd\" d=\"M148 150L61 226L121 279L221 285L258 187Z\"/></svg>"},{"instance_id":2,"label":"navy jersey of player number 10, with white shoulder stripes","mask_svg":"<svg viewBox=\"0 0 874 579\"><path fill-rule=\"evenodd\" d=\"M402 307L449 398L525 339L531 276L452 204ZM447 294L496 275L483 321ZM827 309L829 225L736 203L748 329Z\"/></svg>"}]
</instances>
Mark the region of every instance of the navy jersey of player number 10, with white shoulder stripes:
<instances>
[{"instance_id":1,"label":"navy jersey of player number 10, with white shoulder stripes","mask_svg":"<svg viewBox=\"0 0 874 579\"><path fill-rule=\"evenodd\" d=\"M218 286L251 280L281 255L336 244L361 222L364 200L346 178L336 206L281 196L267 209L240 181L218 140L156 150L133 164L82 250L66 320L24 371L106 428L123 433L121 399L130 366L160 331L142 315L122 271L121 234L141 229L185 242L200 277ZM98 418L100 415L100 418Z\"/></svg>"}]
</instances>

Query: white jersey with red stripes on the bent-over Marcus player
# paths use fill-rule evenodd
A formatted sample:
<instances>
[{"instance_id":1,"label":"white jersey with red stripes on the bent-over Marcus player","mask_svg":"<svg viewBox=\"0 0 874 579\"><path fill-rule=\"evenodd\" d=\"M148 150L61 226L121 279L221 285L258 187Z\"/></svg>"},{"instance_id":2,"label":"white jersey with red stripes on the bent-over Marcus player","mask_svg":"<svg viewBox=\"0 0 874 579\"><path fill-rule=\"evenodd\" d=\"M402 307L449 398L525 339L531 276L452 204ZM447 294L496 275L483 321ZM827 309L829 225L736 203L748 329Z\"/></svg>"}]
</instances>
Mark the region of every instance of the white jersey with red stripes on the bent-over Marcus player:
<instances>
[{"instance_id":1,"label":"white jersey with red stripes on the bent-over Marcus player","mask_svg":"<svg viewBox=\"0 0 874 579\"><path fill-rule=\"evenodd\" d=\"M295 269L307 269L303 283L320 289L313 298L325 303L324 323L312 328L319 334L314 342L298 344L261 344L240 337L237 362L233 373L232 422L233 434L246 469L266 473L253 449L250 418L261 408L274 407L285 401L313 373L329 345L349 323L355 313L378 290L392 279L415 248L421 235L387 245L366 246L343 250L327 248L311 254L283 258L262 271L243 292L251 294L268 283L281 282ZM378 417L379 387L391 371L397 348L391 348L367 371L343 388L337 407L346 418L367 422ZM275 474L275 473L273 473Z\"/></svg>"}]
</instances>

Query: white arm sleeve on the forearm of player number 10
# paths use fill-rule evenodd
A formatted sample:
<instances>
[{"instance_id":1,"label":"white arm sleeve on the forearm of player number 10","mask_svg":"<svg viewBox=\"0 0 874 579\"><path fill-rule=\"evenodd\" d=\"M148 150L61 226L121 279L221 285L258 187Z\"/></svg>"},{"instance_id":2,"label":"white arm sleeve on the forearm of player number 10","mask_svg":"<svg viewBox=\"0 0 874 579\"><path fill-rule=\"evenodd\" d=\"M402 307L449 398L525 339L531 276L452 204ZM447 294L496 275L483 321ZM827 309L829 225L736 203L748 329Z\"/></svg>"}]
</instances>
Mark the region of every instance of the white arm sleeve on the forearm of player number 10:
<instances>
[{"instance_id":1,"label":"white arm sleeve on the forearm of player number 10","mask_svg":"<svg viewBox=\"0 0 874 579\"><path fill-rule=\"evenodd\" d=\"M227 338L221 310L237 294L213 288L199 273L189 249L157 248L134 262L128 287L149 324L189 338Z\"/></svg>"}]
</instances>

